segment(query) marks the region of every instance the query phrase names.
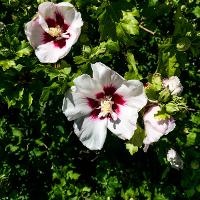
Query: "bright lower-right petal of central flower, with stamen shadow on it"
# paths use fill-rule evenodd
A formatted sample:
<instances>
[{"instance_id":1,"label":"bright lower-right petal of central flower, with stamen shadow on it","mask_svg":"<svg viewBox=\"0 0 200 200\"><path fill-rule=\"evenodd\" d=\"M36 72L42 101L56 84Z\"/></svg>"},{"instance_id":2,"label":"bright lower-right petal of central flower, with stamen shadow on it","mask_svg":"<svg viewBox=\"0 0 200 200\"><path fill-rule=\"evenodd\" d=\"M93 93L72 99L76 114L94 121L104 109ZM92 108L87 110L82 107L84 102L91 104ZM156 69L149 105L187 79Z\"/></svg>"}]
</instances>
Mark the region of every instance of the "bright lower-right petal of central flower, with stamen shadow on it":
<instances>
[{"instance_id":1,"label":"bright lower-right petal of central flower, with stamen shadow on it","mask_svg":"<svg viewBox=\"0 0 200 200\"><path fill-rule=\"evenodd\" d=\"M121 139L130 139L136 129L137 110L128 106L119 106L120 113L116 121L108 120L108 129Z\"/></svg>"}]
</instances>

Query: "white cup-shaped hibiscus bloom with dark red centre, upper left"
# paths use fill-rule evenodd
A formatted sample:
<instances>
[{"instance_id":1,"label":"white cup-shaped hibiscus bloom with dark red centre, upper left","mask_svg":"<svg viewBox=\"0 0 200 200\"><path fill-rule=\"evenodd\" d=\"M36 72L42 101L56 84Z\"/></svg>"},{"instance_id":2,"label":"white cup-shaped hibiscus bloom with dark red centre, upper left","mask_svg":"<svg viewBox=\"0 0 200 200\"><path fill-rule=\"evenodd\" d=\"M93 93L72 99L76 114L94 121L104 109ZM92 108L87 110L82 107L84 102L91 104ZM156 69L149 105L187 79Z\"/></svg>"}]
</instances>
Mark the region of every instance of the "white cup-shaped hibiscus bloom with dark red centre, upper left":
<instances>
[{"instance_id":1,"label":"white cup-shaped hibiscus bloom with dark red centre, upper left","mask_svg":"<svg viewBox=\"0 0 200 200\"><path fill-rule=\"evenodd\" d=\"M81 14L72 4L44 2L25 25L25 33L40 62L55 63L69 53L82 25Z\"/></svg>"}]
</instances>

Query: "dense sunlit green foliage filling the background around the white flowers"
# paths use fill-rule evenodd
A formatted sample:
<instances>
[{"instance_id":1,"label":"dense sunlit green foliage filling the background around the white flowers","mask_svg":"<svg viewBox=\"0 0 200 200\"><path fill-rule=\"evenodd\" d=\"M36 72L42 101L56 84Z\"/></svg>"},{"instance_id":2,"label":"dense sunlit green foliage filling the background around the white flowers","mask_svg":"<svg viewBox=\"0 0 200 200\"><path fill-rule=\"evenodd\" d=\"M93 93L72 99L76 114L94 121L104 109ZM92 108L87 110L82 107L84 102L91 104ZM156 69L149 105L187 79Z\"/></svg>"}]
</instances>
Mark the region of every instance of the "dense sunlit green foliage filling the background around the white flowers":
<instances>
[{"instance_id":1,"label":"dense sunlit green foliage filling the background around the white flowers","mask_svg":"<svg viewBox=\"0 0 200 200\"><path fill-rule=\"evenodd\" d=\"M24 33L42 2L0 0L0 199L197 199L200 1L68 0L84 26L57 64L41 64ZM130 155L110 133L102 151L89 151L62 114L73 79L97 61L144 83L155 72L181 79L187 112L147 153ZM169 148L182 170L166 161Z\"/></svg>"}]
</instances>

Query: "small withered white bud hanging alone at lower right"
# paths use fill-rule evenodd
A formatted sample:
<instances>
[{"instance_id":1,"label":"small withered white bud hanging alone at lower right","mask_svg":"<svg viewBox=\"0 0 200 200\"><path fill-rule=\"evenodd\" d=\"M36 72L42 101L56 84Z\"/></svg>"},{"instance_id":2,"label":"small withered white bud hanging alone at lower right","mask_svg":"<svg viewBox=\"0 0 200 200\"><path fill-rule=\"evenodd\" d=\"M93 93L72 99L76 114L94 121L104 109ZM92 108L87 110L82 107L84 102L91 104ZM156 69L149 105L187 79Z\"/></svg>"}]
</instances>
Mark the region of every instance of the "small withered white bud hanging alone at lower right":
<instances>
[{"instance_id":1,"label":"small withered white bud hanging alone at lower right","mask_svg":"<svg viewBox=\"0 0 200 200\"><path fill-rule=\"evenodd\" d=\"M174 149L169 149L167 152L167 161L170 162L172 168L183 169L183 160Z\"/></svg>"}]
</instances>

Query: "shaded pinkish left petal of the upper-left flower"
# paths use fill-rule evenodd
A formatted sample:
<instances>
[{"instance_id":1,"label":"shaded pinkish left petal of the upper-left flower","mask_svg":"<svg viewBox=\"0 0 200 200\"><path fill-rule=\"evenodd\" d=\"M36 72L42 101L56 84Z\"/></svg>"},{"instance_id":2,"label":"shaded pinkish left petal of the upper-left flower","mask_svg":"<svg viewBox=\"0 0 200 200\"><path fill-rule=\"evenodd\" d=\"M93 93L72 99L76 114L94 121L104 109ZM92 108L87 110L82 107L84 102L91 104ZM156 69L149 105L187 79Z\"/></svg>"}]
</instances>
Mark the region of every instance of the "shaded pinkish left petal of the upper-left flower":
<instances>
[{"instance_id":1,"label":"shaded pinkish left petal of the upper-left flower","mask_svg":"<svg viewBox=\"0 0 200 200\"><path fill-rule=\"evenodd\" d=\"M25 33L33 48L43 43L44 30L39 24L38 17L25 24Z\"/></svg>"}]
</instances>

